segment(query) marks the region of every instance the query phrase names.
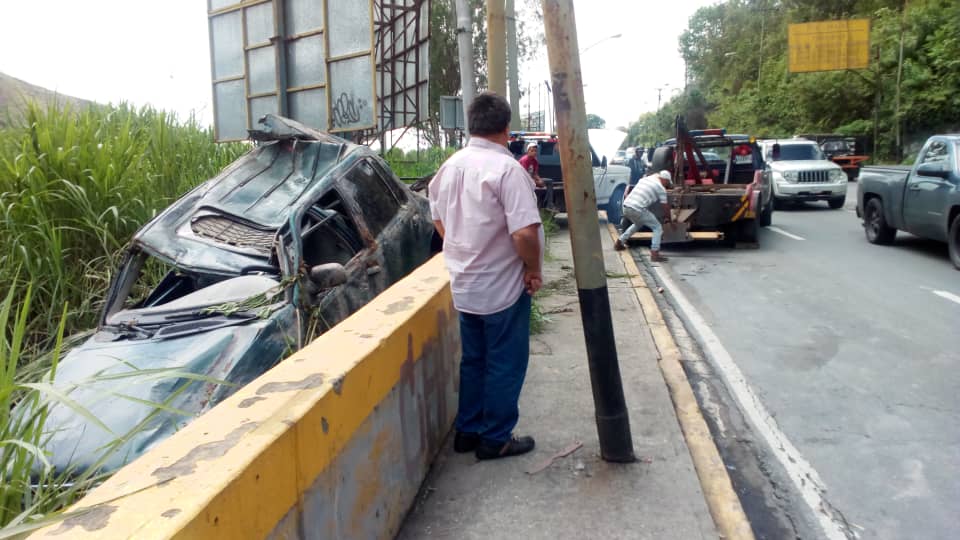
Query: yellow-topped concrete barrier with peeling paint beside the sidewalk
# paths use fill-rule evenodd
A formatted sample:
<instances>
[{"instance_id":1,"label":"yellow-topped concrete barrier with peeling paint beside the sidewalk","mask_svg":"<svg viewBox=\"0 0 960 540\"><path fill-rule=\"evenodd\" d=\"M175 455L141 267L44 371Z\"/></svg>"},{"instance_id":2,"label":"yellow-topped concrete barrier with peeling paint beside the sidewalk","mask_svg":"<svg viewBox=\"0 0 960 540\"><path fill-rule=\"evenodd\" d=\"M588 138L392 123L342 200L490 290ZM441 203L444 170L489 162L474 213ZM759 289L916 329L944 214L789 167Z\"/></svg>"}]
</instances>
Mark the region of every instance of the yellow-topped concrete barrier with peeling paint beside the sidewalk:
<instances>
[{"instance_id":1,"label":"yellow-topped concrete barrier with peeling paint beside the sidewalk","mask_svg":"<svg viewBox=\"0 0 960 540\"><path fill-rule=\"evenodd\" d=\"M38 538L392 538L456 413L442 256L119 470Z\"/></svg>"}]
</instances>

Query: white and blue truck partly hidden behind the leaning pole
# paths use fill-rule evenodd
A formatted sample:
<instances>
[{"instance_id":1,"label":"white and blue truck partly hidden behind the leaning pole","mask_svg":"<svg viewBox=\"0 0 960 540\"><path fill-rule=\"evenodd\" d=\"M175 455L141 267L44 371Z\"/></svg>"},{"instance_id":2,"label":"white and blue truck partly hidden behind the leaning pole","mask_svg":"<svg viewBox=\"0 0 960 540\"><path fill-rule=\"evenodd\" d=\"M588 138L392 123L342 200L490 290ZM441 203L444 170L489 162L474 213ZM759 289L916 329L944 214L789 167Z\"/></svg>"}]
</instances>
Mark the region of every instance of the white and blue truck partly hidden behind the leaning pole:
<instances>
[{"instance_id":1,"label":"white and blue truck partly hidden behind the leaning pole","mask_svg":"<svg viewBox=\"0 0 960 540\"><path fill-rule=\"evenodd\" d=\"M602 133L598 133L602 132ZM589 130L591 137L590 157L593 163L593 185L597 196L597 209L606 210L610 223L620 223L623 197L630 183L630 169L623 165L607 162L604 154L597 154L593 138L604 139L605 146L620 146L627 134L617 130ZM616 137L620 137L619 140ZM566 212L566 200L563 195L563 169L560 165L560 148L555 134L521 133L510 134L510 151L519 158L529 142L537 143L537 159L540 162L540 177L553 180L553 189L537 188L537 204L541 208L553 208ZM611 151L612 153L612 151ZM551 200L547 200L548 194Z\"/></svg>"}]
</instances>

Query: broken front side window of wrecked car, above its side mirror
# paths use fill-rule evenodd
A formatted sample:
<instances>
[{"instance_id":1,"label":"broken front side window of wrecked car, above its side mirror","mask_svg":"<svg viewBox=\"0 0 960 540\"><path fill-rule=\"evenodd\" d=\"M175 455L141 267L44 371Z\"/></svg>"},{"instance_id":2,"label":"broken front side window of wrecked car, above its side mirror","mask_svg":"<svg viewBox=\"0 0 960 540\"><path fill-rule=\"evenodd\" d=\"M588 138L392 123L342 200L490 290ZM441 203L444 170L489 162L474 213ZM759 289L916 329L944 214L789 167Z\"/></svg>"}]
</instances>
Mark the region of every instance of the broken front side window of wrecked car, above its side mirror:
<instances>
[{"instance_id":1,"label":"broken front side window of wrecked car, above its side mirror","mask_svg":"<svg viewBox=\"0 0 960 540\"><path fill-rule=\"evenodd\" d=\"M307 210L300 240L303 262L308 267L326 263L346 265L364 247L357 226L336 190L328 191Z\"/></svg>"}]
</instances>

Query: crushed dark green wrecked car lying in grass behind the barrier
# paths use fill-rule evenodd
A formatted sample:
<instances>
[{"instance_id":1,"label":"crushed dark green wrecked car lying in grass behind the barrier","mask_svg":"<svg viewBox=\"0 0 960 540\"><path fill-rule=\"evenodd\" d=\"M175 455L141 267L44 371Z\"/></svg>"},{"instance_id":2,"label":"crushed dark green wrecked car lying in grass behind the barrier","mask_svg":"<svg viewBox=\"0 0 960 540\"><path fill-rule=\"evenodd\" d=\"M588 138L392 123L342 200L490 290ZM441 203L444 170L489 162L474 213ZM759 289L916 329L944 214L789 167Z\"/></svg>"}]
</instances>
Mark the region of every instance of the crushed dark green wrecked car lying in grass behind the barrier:
<instances>
[{"instance_id":1,"label":"crushed dark green wrecked car lying in grass behind the barrier","mask_svg":"<svg viewBox=\"0 0 960 540\"><path fill-rule=\"evenodd\" d=\"M56 386L90 414L50 410L58 470L121 467L430 257L427 200L369 148L260 123L254 149L136 233L96 333L61 360Z\"/></svg>"}]
</instances>

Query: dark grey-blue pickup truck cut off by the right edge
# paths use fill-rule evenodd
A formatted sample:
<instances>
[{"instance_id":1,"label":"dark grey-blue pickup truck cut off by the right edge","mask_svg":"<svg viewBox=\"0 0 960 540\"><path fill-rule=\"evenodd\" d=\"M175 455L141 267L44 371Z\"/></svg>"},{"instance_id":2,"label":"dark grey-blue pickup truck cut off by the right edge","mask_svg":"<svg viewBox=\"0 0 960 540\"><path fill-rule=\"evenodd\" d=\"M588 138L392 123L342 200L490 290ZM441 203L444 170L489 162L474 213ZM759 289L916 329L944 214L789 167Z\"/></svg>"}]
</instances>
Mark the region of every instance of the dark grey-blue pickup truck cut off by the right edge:
<instances>
[{"instance_id":1,"label":"dark grey-blue pickup truck cut off by the right edge","mask_svg":"<svg viewBox=\"0 0 960 540\"><path fill-rule=\"evenodd\" d=\"M930 137L913 167L864 167L859 187L867 241L891 244L902 230L946 242L960 270L960 135Z\"/></svg>"}]
</instances>

